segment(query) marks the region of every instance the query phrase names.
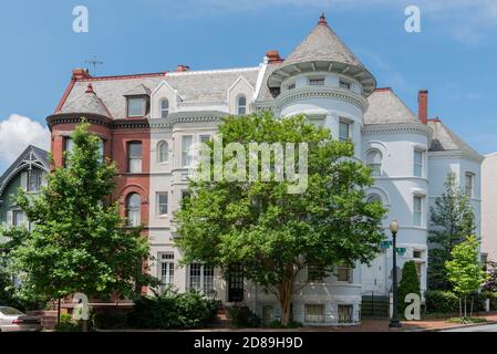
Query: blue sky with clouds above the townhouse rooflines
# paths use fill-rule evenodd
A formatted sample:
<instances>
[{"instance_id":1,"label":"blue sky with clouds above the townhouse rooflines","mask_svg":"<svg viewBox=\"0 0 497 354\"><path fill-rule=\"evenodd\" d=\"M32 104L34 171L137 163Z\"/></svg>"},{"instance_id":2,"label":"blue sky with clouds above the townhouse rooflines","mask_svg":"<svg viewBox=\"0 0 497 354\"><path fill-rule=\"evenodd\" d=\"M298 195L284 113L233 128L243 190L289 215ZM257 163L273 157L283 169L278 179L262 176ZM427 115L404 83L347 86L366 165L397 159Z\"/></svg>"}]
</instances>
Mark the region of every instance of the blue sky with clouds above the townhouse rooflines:
<instances>
[{"instance_id":1,"label":"blue sky with clouds above the townhouse rooflines","mask_svg":"<svg viewBox=\"0 0 497 354\"><path fill-rule=\"evenodd\" d=\"M89 33L72 31L80 4ZM421 33L404 31L408 4L422 11ZM288 55L321 11L379 86L413 110L428 88L431 117L497 150L494 0L17 0L0 8L0 171L25 144L46 144L44 119L91 55L105 62L99 75L255 66L267 50Z\"/></svg>"}]
</instances>

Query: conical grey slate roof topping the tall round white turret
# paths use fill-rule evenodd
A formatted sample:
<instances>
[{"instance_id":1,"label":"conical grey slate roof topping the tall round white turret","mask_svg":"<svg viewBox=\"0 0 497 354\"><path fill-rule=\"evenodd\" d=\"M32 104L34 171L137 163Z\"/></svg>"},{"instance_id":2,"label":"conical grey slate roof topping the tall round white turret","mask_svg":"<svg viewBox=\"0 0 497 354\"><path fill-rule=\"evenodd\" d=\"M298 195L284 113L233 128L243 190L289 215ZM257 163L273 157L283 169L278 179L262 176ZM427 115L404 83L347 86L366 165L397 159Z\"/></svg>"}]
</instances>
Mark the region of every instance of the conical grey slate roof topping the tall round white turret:
<instances>
[{"instance_id":1,"label":"conical grey slate roof topping the tall round white turret","mask_svg":"<svg viewBox=\"0 0 497 354\"><path fill-rule=\"evenodd\" d=\"M303 42L284 60L284 64L321 60L364 67L325 22L319 23L312 30Z\"/></svg>"}]
</instances>

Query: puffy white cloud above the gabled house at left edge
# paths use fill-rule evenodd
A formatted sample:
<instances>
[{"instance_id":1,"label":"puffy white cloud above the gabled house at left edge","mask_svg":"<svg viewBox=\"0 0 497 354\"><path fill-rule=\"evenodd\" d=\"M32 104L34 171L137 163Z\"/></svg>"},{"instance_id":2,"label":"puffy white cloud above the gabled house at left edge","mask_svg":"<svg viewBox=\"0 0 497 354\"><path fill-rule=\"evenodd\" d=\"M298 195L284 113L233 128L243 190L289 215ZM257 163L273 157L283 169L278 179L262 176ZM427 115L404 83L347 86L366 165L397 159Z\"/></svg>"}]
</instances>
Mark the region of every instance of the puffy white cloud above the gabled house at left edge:
<instances>
[{"instance_id":1,"label":"puffy white cloud above the gabled house at left edge","mask_svg":"<svg viewBox=\"0 0 497 354\"><path fill-rule=\"evenodd\" d=\"M12 164L28 145L49 150L49 128L19 114L0 121L0 164Z\"/></svg>"}]
</instances>

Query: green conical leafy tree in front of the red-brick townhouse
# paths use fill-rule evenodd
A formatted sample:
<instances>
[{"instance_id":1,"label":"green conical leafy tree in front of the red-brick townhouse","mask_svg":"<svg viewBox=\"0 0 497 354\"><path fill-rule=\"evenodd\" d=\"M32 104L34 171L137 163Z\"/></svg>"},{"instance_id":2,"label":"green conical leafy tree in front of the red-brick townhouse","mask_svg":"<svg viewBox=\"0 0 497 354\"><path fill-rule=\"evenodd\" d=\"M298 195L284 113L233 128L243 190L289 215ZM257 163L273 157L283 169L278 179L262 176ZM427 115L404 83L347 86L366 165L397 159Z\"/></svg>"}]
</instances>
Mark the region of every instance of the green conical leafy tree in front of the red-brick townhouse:
<instances>
[{"instance_id":1,"label":"green conical leafy tree in front of the red-brick townhouse","mask_svg":"<svg viewBox=\"0 0 497 354\"><path fill-rule=\"evenodd\" d=\"M117 202L110 202L116 168L100 157L100 138L80 124L66 152L66 167L55 168L39 196L19 191L17 202L31 230L11 228L9 268L19 274L19 295L53 301L85 293L89 298L132 295L148 258L139 228L126 228Z\"/></svg>"}]
</instances>

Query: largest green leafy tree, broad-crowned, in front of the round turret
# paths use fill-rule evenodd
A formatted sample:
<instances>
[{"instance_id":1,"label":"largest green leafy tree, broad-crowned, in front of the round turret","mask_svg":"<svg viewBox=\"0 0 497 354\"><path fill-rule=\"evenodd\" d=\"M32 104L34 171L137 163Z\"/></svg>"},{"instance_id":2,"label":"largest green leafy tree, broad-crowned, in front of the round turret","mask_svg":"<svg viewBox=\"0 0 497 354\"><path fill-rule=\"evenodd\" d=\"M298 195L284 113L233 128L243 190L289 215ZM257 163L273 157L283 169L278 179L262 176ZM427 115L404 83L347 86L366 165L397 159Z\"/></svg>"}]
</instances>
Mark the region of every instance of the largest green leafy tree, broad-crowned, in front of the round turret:
<instances>
[{"instance_id":1,"label":"largest green leafy tree, broad-crowned, in front of the round turret","mask_svg":"<svg viewBox=\"0 0 497 354\"><path fill-rule=\"evenodd\" d=\"M308 124L304 116L228 117L219 133L225 147L234 142L245 147L252 142L308 143L304 192L289 194L290 181L275 178L190 180L191 197L175 219L185 263L204 261L225 273L241 264L248 280L276 295L286 325L292 296L302 287L296 287L296 279L306 267L325 273L339 263L353 266L376 256L385 209L381 202L365 202L371 169L351 158L353 144L332 140L329 129ZM275 177L275 170L270 173Z\"/></svg>"}]
</instances>

